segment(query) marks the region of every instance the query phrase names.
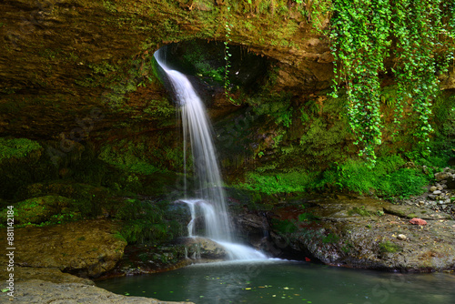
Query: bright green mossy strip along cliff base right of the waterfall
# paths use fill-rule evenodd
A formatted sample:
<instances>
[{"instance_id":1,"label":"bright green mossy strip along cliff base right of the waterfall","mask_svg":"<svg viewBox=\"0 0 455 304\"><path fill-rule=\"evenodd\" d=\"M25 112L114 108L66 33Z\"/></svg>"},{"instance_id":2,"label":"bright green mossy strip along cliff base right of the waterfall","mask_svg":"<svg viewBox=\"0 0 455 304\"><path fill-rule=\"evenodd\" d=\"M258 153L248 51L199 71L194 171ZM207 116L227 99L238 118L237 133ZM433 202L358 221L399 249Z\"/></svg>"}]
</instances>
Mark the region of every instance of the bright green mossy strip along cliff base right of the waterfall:
<instances>
[{"instance_id":1,"label":"bright green mossy strip along cliff base right of the waterfall","mask_svg":"<svg viewBox=\"0 0 455 304\"><path fill-rule=\"evenodd\" d=\"M329 187L384 198L409 198L422 194L433 178L430 169L430 166L434 166L433 162L415 158L414 163L429 166L428 173L421 169L423 165L406 167L407 162L399 156L379 157L374 168L360 159L350 159L341 164L335 163L324 171L285 172L272 167L274 173L260 170L249 172L245 182L238 183L238 187L268 195L326 190ZM361 209L358 211L362 214Z\"/></svg>"}]
</instances>

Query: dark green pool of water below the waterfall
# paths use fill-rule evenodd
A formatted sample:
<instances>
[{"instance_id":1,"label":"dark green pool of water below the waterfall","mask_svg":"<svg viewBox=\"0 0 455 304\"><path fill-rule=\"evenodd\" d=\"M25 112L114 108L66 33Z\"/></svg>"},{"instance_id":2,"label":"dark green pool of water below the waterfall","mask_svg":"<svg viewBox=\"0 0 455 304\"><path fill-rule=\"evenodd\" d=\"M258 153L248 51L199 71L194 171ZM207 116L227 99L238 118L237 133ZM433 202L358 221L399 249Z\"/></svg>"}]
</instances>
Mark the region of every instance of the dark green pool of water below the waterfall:
<instances>
[{"instance_id":1,"label":"dark green pool of water below the waterfall","mask_svg":"<svg viewBox=\"0 0 455 304\"><path fill-rule=\"evenodd\" d=\"M96 285L118 294L197 304L455 303L454 274L400 274L273 259L197 264Z\"/></svg>"}]
</instances>

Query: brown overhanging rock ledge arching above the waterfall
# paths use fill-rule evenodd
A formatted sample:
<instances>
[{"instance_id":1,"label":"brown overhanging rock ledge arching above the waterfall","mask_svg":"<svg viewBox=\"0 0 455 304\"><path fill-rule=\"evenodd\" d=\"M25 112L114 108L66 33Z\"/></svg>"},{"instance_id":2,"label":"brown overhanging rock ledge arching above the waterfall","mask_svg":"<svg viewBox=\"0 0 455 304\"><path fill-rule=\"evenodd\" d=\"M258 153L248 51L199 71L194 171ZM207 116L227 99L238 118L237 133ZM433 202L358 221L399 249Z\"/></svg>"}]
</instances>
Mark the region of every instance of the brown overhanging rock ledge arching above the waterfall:
<instances>
[{"instance_id":1,"label":"brown overhanging rock ledge arching above the waterfall","mask_svg":"<svg viewBox=\"0 0 455 304\"><path fill-rule=\"evenodd\" d=\"M169 105L151 54L193 38L224 40L226 22L233 45L277 60L278 88L329 85L328 39L296 7L238 2L231 9L206 0L2 2L0 135L58 140L84 119L89 132L74 138L126 125L156 129L154 109Z\"/></svg>"}]
</instances>

